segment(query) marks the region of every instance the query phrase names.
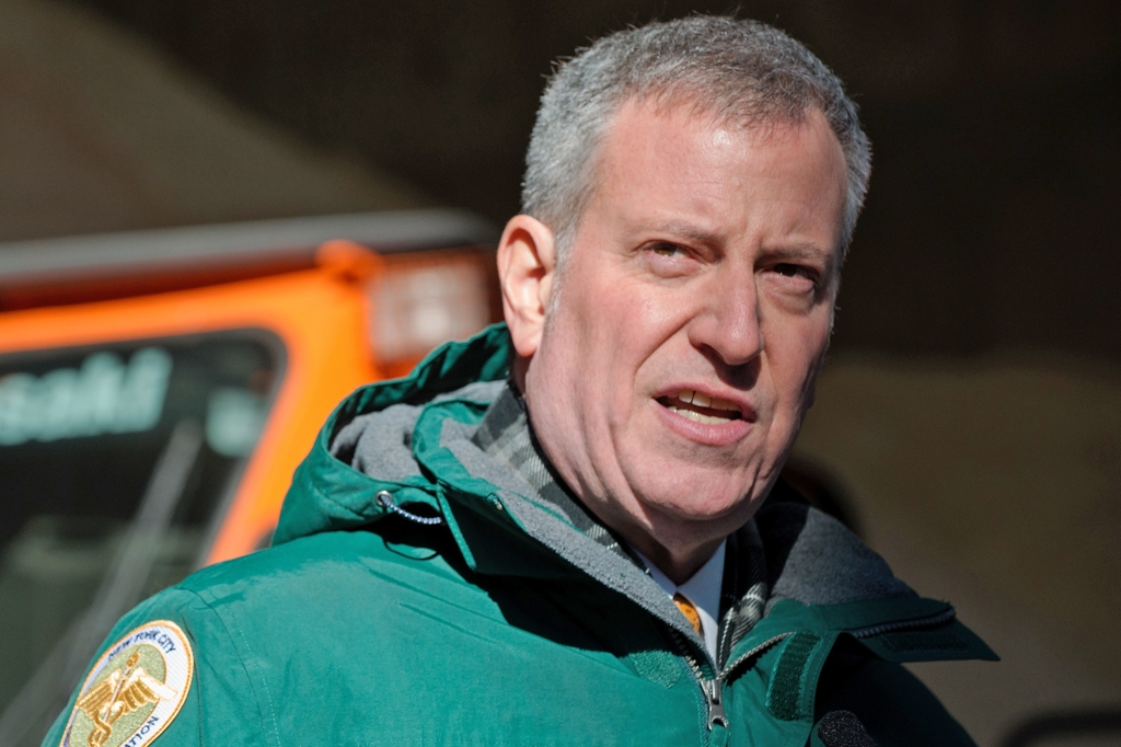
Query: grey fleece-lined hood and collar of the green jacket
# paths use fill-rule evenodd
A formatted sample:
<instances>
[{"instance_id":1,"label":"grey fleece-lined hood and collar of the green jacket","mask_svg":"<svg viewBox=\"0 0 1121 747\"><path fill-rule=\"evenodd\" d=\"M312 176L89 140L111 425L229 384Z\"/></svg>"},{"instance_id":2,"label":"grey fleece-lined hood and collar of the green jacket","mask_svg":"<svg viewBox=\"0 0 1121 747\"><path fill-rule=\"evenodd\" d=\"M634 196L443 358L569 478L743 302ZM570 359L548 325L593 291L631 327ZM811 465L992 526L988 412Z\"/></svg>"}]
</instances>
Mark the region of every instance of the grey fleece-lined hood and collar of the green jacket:
<instances>
[{"instance_id":1,"label":"grey fleece-lined hood and collar of the green jacket","mask_svg":"<svg viewBox=\"0 0 1121 747\"><path fill-rule=\"evenodd\" d=\"M435 350L408 378L343 400L294 476L274 544L374 523L390 510L377 499L388 491L396 506L439 514L476 572L591 575L700 642L649 575L580 532L471 441L506 386L510 360L509 334L498 324ZM815 624L850 630L953 617L952 607L920 599L852 532L797 498L772 495L754 523L767 557L768 617L780 606L813 609Z\"/></svg>"}]
</instances>

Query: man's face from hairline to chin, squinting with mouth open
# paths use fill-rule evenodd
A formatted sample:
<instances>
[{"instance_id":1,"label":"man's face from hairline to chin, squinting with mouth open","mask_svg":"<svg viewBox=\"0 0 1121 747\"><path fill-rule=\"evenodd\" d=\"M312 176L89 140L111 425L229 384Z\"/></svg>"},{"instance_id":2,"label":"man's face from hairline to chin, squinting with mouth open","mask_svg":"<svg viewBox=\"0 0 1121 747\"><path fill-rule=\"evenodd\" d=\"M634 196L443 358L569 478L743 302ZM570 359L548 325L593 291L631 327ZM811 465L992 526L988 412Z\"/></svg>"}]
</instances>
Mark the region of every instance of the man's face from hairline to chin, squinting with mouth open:
<instances>
[{"instance_id":1,"label":"man's face from hairline to chin, squinting with mouth open","mask_svg":"<svg viewBox=\"0 0 1121 747\"><path fill-rule=\"evenodd\" d=\"M743 129L632 102L597 174L526 375L535 431L640 550L716 541L758 508L812 404L844 156L817 111Z\"/></svg>"}]
</instances>

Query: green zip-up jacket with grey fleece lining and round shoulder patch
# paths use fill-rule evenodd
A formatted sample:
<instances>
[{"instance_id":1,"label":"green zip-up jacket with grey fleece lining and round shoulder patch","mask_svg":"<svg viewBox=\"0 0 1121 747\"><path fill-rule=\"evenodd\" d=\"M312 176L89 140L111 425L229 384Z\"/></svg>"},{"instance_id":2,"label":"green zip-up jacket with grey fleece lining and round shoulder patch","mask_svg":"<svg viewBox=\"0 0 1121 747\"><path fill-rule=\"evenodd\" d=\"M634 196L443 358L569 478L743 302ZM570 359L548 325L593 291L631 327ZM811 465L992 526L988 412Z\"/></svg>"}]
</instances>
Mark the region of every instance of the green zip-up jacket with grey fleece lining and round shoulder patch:
<instances>
[{"instance_id":1,"label":"green zip-up jacket with grey fleece lining and round shoulder patch","mask_svg":"<svg viewBox=\"0 0 1121 747\"><path fill-rule=\"evenodd\" d=\"M471 444L508 345L491 328L345 399L272 547L127 615L44 744L807 745L834 709L881 747L973 744L899 663L992 653L796 501L757 515L767 614L712 662L649 575ZM332 454L359 418L378 478Z\"/></svg>"}]
</instances>

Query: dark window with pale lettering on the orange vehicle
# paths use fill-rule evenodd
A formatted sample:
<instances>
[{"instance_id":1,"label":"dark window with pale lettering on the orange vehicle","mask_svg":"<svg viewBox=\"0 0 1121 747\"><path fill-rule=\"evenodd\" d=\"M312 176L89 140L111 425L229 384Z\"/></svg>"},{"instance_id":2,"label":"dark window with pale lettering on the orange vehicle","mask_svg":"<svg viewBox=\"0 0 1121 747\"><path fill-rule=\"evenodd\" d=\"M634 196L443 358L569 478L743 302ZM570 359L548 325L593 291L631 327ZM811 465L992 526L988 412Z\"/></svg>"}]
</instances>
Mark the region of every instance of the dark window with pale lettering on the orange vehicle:
<instances>
[{"instance_id":1,"label":"dark window with pale lettering on the orange vehicle","mask_svg":"<svg viewBox=\"0 0 1121 747\"><path fill-rule=\"evenodd\" d=\"M0 354L0 744L198 568L284 369L259 330Z\"/></svg>"}]
</instances>

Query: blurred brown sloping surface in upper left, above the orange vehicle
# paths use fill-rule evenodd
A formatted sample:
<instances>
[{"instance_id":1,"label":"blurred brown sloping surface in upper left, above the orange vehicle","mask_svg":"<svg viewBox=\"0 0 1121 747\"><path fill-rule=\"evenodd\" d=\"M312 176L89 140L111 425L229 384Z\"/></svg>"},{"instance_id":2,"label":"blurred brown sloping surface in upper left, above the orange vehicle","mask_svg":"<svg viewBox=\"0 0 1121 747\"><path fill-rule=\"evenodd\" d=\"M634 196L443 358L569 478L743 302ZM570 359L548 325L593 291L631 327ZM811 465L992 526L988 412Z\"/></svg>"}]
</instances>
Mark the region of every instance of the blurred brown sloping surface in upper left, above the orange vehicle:
<instances>
[{"instance_id":1,"label":"blurred brown sloping surface in upper left, above the orange vehicle","mask_svg":"<svg viewBox=\"0 0 1121 747\"><path fill-rule=\"evenodd\" d=\"M424 202L90 9L0 0L0 241Z\"/></svg>"}]
</instances>

